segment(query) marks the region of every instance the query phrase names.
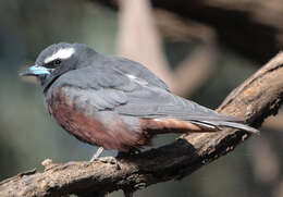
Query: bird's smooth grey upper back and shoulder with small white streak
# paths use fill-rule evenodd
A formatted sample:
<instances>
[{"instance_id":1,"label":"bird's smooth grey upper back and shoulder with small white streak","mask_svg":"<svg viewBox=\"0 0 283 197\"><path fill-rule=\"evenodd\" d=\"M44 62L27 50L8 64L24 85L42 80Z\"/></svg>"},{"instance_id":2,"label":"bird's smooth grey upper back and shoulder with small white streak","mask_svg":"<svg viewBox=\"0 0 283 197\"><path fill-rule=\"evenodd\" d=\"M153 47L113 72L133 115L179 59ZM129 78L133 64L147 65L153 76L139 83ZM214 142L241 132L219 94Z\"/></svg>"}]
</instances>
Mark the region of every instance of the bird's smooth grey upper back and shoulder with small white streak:
<instances>
[{"instance_id":1,"label":"bird's smooth grey upper back and shoulder with small white streak","mask_svg":"<svg viewBox=\"0 0 283 197\"><path fill-rule=\"evenodd\" d=\"M143 64L113 56L97 54L85 65L58 78L60 85L77 85L91 88L126 88L150 86L169 90L167 84ZM126 90L125 89L125 90Z\"/></svg>"}]
</instances>

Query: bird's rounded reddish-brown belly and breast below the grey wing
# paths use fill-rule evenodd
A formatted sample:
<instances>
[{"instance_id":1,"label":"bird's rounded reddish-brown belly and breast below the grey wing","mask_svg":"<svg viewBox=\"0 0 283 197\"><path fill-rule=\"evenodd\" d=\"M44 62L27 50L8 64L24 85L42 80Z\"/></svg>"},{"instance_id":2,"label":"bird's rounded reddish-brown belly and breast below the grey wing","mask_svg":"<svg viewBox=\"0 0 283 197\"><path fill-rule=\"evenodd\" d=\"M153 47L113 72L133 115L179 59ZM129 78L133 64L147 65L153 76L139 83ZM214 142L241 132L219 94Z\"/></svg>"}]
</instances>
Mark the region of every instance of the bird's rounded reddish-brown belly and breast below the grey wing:
<instances>
[{"instance_id":1,"label":"bird's rounded reddish-brown belly and breast below the grey wing","mask_svg":"<svg viewBox=\"0 0 283 197\"><path fill-rule=\"evenodd\" d=\"M64 95L57 95L47 100L47 108L65 131L90 145L128 151L144 144L142 141L143 134L138 131L138 126L137 130L130 130L131 126L111 111L89 113L89 110L79 109ZM85 106L85 108L90 107Z\"/></svg>"}]
</instances>

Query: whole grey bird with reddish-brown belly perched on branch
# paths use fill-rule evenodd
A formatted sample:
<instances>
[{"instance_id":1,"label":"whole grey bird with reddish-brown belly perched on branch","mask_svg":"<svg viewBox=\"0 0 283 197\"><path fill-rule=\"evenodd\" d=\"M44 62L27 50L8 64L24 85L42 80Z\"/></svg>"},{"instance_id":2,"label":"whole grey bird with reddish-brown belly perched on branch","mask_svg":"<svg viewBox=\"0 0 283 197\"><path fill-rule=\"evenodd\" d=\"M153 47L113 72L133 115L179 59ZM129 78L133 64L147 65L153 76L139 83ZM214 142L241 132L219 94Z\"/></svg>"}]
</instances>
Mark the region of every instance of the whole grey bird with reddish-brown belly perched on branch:
<instances>
[{"instance_id":1,"label":"whole grey bird with reddish-brown belly perched on branch","mask_svg":"<svg viewBox=\"0 0 283 197\"><path fill-rule=\"evenodd\" d=\"M77 139L131 153L158 134L219 132L232 127L258 133L238 118L220 114L170 91L143 64L104 56L84 44L44 49L22 76L36 76L50 115Z\"/></svg>"}]
</instances>

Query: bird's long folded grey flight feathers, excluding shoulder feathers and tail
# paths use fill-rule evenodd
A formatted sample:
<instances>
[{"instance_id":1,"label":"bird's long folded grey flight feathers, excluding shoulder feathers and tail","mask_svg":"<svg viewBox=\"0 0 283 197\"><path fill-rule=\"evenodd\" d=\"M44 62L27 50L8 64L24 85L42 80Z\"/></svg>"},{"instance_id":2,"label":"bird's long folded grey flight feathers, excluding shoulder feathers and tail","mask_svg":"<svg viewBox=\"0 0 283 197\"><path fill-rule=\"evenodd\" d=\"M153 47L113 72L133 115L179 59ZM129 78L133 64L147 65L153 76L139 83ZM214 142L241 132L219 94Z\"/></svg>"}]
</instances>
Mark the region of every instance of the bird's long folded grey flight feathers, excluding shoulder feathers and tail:
<instances>
[{"instance_id":1,"label":"bird's long folded grey flight feathers, excluding shoulder feathers and tail","mask_svg":"<svg viewBox=\"0 0 283 197\"><path fill-rule=\"evenodd\" d=\"M143 118L176 118L186 121L229 119L196 102L157 87L142 87L126 94L128 102L118 106L120 114ZM235 121L235 119L233 119Z\"/></svg>"}]
</instances>

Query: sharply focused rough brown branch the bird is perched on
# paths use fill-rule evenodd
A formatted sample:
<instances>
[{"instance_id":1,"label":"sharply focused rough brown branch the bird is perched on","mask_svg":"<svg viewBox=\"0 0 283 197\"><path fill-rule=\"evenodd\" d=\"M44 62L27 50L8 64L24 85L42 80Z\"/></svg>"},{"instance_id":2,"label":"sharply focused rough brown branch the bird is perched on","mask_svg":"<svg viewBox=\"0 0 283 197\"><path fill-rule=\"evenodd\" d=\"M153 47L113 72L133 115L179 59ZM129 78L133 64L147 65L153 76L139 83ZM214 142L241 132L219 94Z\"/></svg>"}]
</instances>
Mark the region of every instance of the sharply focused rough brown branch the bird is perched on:
<instances>
[{"instance_id":1,"label":"sharply focused rough brown branch the bird is perched on","mask_svg":"<svg viewBox=\"0 0 283 197\"><path fill-rule=\"evenodd\" d=\"M275 114L283 96L283 53L244 82L224 100L220 113L239 116L259 126L264 118ZM45 161L44 172L29 171L0 183L0 196L63 196L106 194L116 189L136 190L149 185L179 180L218 159L249 134L223 130L219 133L184 135L174 143L114 163Z\"/></svg>"}]
</instances>

